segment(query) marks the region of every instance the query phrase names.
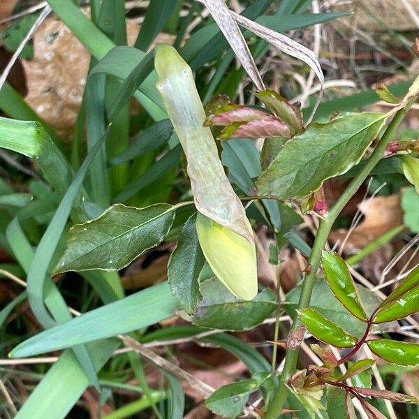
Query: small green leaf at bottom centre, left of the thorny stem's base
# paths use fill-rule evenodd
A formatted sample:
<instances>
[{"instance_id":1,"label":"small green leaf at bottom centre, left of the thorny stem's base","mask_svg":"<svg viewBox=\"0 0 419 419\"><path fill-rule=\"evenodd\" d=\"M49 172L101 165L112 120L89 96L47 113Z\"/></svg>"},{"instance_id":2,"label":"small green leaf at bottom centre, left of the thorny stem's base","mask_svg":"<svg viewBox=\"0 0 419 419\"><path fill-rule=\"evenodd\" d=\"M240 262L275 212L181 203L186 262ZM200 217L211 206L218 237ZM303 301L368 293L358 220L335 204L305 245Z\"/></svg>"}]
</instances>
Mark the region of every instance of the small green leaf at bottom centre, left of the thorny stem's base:
<instances>
[{"instance_id":1,"label":"small green leaf at bottom centre, left of the thorny stem's base","mask_svg":"<svg viewBox=\"0 0 419 419\"><path fill-rule=\"evenodd\" d=\"M205 406L217 415L235 418L242 413L251 392L260 385L258 380L242 380L223 385L205 400Z\"/></svg>"}]
</instances>

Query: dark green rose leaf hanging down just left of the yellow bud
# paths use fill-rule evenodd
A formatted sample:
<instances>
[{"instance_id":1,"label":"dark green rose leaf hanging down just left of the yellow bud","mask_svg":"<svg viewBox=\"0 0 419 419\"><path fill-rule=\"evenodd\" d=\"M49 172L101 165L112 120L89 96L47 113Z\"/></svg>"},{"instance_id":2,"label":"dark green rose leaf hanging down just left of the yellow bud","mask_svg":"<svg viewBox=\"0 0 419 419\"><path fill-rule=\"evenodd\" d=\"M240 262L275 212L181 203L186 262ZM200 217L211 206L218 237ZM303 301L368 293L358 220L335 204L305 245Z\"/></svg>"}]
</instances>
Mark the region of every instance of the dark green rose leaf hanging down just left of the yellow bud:
<instances>
[{"instance_id":1,"label":"dark green rose leaf hanging down just left of the yellow bud","mask_svg":"<svg viewBox=\"0 0 419 419\"><path fill-rule=\"evenodd\" d=\"M184 224L168 264L168 280L172 293L189 314L195 311L202 298L198 277L205 264L195 223L196 214L193 214Z\"/></svg>"}]
</instances>

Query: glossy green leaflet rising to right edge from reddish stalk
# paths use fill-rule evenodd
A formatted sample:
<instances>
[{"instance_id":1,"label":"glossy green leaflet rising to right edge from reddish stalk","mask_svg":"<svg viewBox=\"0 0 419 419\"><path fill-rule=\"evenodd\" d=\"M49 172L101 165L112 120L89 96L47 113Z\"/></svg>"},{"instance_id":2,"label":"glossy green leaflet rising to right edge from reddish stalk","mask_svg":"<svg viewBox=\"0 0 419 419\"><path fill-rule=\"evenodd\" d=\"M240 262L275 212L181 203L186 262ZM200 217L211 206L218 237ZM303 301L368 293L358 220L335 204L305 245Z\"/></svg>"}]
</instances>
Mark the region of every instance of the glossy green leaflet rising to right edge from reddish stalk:
<instances>
[{"instance_id":1,"label":"glossy green leaflet rising to right edge from reddish stalk","mask_svg":"<svg viewBox=\"0 0 419 419\"><path fill-rule=\"evenodd\" d=\"M419 311L419 267L385 298L372 320L374 323L384 323L404 318L416 311Z\"/></svg>"}]
</instances>

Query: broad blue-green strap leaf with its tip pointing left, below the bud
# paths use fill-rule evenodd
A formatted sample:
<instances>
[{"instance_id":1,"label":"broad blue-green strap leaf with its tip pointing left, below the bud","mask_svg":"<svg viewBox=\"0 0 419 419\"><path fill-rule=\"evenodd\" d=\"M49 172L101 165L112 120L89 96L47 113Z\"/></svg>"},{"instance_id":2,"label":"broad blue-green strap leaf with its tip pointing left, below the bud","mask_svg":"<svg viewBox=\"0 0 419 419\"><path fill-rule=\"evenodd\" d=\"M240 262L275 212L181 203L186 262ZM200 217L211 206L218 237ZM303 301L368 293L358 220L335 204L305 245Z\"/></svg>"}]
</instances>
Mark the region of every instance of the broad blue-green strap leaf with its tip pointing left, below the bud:
<instances>
[{"instance_id":1,"label":"broad blue-green strap leaf with its tip pointing left, below the bud","mask_svg":"<svg viewBox=\"0 0 419 419\"><path fill-rule=\"evenodd\" d=\"M172 316L177 307L164 282L45 330L18 345L10 356L31 356L133 332Z\"/></svg>"}]
</instances>

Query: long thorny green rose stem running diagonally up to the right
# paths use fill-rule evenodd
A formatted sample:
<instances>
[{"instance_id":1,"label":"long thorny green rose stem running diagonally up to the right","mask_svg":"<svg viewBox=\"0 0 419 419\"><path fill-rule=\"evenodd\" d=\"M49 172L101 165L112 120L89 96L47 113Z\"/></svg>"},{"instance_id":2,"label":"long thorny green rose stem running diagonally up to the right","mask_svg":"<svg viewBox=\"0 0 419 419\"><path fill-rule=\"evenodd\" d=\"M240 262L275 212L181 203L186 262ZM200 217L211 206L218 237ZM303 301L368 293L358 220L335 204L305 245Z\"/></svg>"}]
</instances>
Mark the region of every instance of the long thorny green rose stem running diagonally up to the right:
<instances>
[{"instance_id":1,"label":"long thorny green rose stem running diagonally up to the right","mask_svg":"<svg viewBox=\"0 0 419 419\"><path fill-rule=\"evenodd\" d=\"M316 234L316 239L314 240L313 249L311 250L309 260L311 271L307 277L305 277L304 283L302 285L300 301L298 303L299 309L309 307L311 293L313 291L314 283L317 277L317 270L321 262L321 252L325 247L326 241L328 240L328 235L330 233L330 229L333 226L333 223L335 223L337 216L339 216L341 210L344 209L345 205L352 198L355 192L358 191L360 186L365 182L365 179L367 179L369 173L376 166L378 161L380 161L384 156L385 148L387 147L388 142L397 131L399 124L406 116L406 112L409 110L412 104L413 102L408 103L405 108L397 111L395 117L392 119L392 122L390 122L387 129L383 133L381 140L379 140L378 144L376 145L374 152L372 152L371 156L369 156L367 164L353 178L352 182L348 185L344 193L341 194L330 212L325 216L325 219L321 221ZM295 317L293 324L291 325L290 333L295 332L295 330L300 325L301 323L299 319ZM265 416L263 416L264 419L276 419L281 414L281 410L288 397L288 389L286 388L285 383L288 378L290 378L290 376L295 372L299 349L299 347L287 348L284 369L281 374L281 383L279 384L274 397L272 398L272 401L267 406L267 411Z\"/></svg>"}]
</instances>

